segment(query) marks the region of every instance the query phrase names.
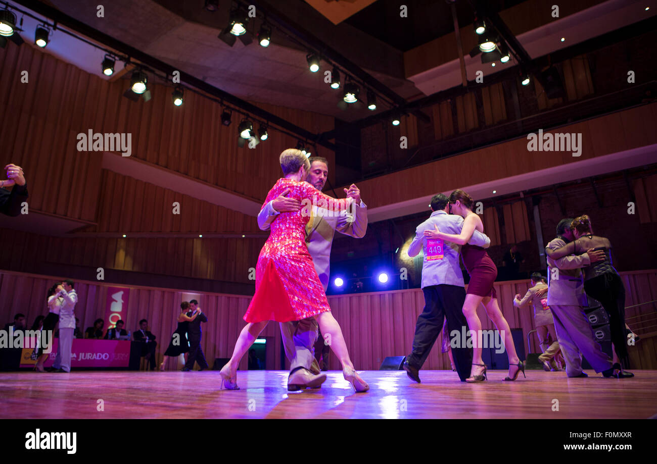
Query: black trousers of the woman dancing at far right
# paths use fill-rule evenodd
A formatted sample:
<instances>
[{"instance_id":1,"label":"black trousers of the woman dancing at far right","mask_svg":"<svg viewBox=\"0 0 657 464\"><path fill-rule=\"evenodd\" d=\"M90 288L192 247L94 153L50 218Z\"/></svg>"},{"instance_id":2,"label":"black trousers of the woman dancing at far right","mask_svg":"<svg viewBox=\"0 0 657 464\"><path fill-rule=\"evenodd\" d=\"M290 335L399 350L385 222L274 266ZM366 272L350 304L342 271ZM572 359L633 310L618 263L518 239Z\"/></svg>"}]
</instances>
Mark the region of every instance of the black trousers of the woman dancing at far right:
<instances>
[{"instance_id":1,"label":"black trousers of the woman dancing at far right","mask_svg":"<svg viewBox=\"0 0 657 464\"><path fill-rule=\"evenodd\" d=\"M584 291L600 302L609 316L609 331L614 350L621 362L627 363L625 332L625 286L618 274L608 272L584 282Z\"/></svg>"}]
</instances>

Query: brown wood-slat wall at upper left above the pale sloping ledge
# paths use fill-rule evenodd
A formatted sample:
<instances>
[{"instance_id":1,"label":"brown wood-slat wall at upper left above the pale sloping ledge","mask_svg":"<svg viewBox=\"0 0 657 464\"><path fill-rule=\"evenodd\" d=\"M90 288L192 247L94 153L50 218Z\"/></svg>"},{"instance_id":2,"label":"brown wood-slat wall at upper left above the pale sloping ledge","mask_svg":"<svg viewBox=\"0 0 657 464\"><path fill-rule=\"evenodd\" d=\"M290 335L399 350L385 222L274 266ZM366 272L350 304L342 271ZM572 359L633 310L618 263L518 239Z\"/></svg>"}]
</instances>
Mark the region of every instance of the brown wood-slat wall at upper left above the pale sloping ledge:
<instances>
[{"instance_id":1,"label":"brown wood-slat wall at upper left above the pale sloping ledge","mask_svg":"<svg viewBox=\"0 0 657 464\"><path fill-rule=\"evenodd\" d=\"M0 138L10 140L0 164L23 167L30 207L94 221L101 183L97 152L78 152L78 133L130 133L131 156L263 200L279 179L279 155L296 138L270 130L256 148L238 148L237 125L220 123L221 105L195 93L171 104L171 88L150 83L152 99L132 102L129 81L106 81L57 60L36 47L0 49ZM28 83L20 72L28 71ZM258 104L260 105L260 104ZM260 105L313 133L334 129L334 119L290 108ZM258 125L256 124L256 129ZM332 164L334 154L318 148ZM66 198L70 201L58 201Z\"/></svg>"}]
</instances>

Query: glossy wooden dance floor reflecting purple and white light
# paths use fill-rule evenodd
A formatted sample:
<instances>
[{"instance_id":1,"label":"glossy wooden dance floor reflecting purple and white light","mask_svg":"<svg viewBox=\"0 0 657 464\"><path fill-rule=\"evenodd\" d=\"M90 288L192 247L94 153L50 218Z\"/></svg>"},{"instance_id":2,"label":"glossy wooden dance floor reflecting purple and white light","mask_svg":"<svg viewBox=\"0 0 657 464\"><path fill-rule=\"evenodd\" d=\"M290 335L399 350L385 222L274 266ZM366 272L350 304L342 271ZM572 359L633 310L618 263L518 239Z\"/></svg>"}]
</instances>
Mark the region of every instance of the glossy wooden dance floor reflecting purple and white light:
<instances>
[{"instance_id":1,"label":"glossy wooden dance floor reflecting purple and white light","mask_svg":"<svg viewBox=\"0 0 657 464\"><path fill-rule=\"evenodd\" d=\"M657 413L657 371L627 380L528 371L528 378L466 384L451 371L362 371L356 394L329 371L319 390L288 392L286 371L238 371L240 390L219 390L218 371L0 373L3 418L647 418ZM102 400L104 411L98 411ZM553 404L558 400L558 411Z\"/></svg>"}]
</instances>

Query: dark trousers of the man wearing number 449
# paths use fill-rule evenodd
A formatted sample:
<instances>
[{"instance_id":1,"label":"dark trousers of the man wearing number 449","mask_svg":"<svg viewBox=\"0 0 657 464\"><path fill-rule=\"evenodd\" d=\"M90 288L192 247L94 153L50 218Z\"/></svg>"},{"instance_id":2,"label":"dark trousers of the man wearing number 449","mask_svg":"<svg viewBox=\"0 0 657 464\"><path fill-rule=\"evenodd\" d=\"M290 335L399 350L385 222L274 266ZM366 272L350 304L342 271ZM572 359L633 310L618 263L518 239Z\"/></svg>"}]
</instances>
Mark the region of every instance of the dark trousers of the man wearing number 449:
<instances>
[{"instance_id":1,"label":"dark trousers of the man wearing number 449","mask_svg":"<svg viewBox=\"0 0 657 464\"><path fill-rule=\"evenodd\" d=\"M424 310L417 318L415 324L415 337L413 338L413 352L407 356L407 362L417 368L422 368L429 356L431 348L436 343L438 335L443 329L443 322L447 319L449 333L453 330L459 333L468 333L468 322L463 315L465 302L465 289L458 285L429 285L422 289L424 292ZM463 327L465 327L463 329ZM452 348L454 367L462 382L470 377L472 368L472 348Z\"/></svg>"}]
</instances>

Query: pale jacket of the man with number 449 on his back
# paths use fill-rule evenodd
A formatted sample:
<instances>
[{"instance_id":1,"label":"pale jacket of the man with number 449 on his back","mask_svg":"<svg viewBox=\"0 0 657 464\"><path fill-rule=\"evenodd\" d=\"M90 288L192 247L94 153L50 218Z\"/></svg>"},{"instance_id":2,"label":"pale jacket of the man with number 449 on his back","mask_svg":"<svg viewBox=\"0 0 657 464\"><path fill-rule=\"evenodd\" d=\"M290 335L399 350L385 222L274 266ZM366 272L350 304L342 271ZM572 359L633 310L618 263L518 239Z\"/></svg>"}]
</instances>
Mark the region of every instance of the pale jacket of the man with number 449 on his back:
<instances>
[{"instance_id":1,"label":"pale jacket of the man with number 449 on his back","mask_svg":"<svg viewBox=\"0 0 657 464\"><path fill-rule=\"evenodd\" d=\"M408 255L410 257L417 256L420 253L420 249L424 252L422 288L428 287L429 285L458 285L459 287L464 287L463 272L461 272L461 264L459 263L461 245L445 241L442 259L427 259L424 231L434 230L436 226L438 226L440 232L458 235L461 234L461 230L463 229L463 218L459 215L447 214L440 209L431 213L429 219L422 222L415 229L415 238L409 246ZM468 243L487 248L490 246L491 240L486 234L475 230Z\"/></svg>"}]
</instances>

